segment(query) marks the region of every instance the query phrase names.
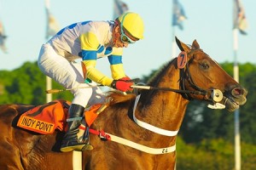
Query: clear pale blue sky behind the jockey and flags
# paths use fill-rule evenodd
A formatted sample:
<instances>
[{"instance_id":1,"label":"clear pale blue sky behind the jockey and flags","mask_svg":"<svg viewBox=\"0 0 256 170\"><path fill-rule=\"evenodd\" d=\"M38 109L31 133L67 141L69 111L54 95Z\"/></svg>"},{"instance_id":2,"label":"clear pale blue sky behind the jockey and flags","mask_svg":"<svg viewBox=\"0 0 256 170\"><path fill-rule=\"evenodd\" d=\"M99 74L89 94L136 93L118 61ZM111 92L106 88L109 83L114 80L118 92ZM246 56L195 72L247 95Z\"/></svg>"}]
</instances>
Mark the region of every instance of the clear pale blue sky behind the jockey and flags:
<instances>
[{"instance_id":1,"label":"clear pale blue sky behind the jockey and flags","mask_svg":"<svg viewBox=\"0 0 256 170\"><path fill-rule=\"evenodd\" d=\"M195 39L212 59L219 63L233 61L233 0L179 0L188 17L183 31L172 27L172 0L123 0L131 11L141 14L145 24L144 39L125 48L123 63L128 76L142 77L172 59L172 32L183 42ZM239 63L256 63L256 2L242 0L248 29L238 34ZM113 0L50 0L50 11L60 27L83 20L113 20ZM36 61L46 42L44 0L0 0L0 20L8 36L9 53L0 50L0 70L12 71L26 61ZM179 53L179 50L176 50ZM176 54L177 55L177 54ZM96 67L110 75L108 59L98 59Z\"/></svg>"}]
</instances>

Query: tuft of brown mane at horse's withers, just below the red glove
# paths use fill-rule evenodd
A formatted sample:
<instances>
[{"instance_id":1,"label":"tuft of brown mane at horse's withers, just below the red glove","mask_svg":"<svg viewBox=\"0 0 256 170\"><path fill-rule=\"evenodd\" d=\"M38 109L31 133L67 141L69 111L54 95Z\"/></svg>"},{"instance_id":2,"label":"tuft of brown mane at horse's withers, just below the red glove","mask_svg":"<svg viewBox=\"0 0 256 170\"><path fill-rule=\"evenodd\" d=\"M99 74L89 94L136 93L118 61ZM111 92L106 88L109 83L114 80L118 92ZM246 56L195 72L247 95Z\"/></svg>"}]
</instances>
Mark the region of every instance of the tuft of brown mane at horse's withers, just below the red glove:
<instances>
[{"instance_id":1,"label":"tuft of brown mane at horse's withers, just below the red glove","mask_svg":"<svg viewBox=\"0 0 256 170\"><path fill-rule=\"evenodd\" d=\"M109 99L109 105L114 105L118 103L125 103L131 99L135 99L136 94L121 94L119 92L111 91L108 92L107 100Z\"/></svg>"}]
</instances>

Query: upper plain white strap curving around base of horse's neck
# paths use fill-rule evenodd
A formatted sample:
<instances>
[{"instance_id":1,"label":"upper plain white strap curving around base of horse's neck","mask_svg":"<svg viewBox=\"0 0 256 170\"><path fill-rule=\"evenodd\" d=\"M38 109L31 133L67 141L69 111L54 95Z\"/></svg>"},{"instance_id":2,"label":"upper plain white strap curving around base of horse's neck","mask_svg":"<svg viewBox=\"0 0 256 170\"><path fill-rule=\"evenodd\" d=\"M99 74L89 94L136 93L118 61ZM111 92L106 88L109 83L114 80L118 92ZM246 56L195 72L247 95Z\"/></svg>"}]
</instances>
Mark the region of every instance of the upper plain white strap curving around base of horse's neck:
<instances>
[{"instance_id":1,"label":"upper plain white strap curving around base of horse's neck","mask_svg":"<svg viewBox=\"0 0 256 170\"><path fill-rule=\"evenodd\" d=\"M134 103L134 106L133 106L133 120L134 122L137 123L137 125L139 125L140 127L143 127L143 128L146 128L154 133L159 133L161 135L165 135L165 136L176 136L177 135L177 131L169 131L169 130L165 130L165 129L162 129L162 128L159 128L159 127L154 127L153 125L150 125L148 124L147 122L142 122L140 120L138 120L135 116L135 110L136 110L136 107L137 107L137 103L140 99L141 95L137 95L137 98L135 99L135 103Z\"/></svg>"}]
</instances>

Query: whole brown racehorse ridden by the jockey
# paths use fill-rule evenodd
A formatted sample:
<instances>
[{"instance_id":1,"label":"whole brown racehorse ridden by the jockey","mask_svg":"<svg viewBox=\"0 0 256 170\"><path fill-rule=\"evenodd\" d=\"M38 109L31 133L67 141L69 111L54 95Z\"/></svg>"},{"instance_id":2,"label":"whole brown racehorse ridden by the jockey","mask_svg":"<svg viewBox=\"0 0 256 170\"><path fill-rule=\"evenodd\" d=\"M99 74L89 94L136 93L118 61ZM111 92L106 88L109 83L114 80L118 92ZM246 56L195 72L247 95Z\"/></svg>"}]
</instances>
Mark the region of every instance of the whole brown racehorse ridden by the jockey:
<instances>
[{"instance_id":1,"label":"whole brown racehorse ridden by the jockey","mask_svg":"<svg viewBox=\"0 0 256 170\"><path fill-rule=\"evenodd\" d=\"M183 69L177 68L177 58L166 64L148 83L154 90L143 89L135 107L137 120L166 131L177 131L190 99L212 101L212 89L223 92L219 103L235 111L246 102L242 88L194 41L191 47L177 39L177 45L188 54ZM174 90L173 90L174 89ZM176 89L176 90L175 90ZM135 95L112 94L110 105L93 123L93 129L128 139L150 148L167 148L176 144L177 136L166 136L140 127L133 120ZM15 117L32 106L0 106L0 169L73 169L73 153L59 151L62 133L39 135L15 127ZM94 150L83 151L82 169L174 169L176 152L148 154L113 141L102 141L90 134Z\"/></svg>"}]
</instances>

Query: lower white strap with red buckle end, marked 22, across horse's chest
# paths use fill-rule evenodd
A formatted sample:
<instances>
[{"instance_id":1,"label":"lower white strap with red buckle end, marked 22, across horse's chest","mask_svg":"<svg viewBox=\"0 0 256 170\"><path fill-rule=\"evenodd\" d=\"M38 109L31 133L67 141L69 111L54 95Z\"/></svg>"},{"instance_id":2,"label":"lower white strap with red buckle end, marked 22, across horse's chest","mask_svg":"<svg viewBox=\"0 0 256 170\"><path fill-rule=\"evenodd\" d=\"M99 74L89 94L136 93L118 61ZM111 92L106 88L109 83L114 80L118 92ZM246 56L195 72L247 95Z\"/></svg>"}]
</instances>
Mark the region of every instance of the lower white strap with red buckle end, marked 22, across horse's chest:
<instances>
[{"instance_id":1,"label":"lower white strap with red buckle end, marked 22, across horse's chest","mask_svg":"<svg viewBox=\"0 0 256 170\"><path fill-rule=\"evenodd\" d=\"M150 148L148 146L144 146L143 144L137 144L135 142L132 142L131 140L123 139L110 133L104 133L103 131L96 131L91 128L90 128L90 133L94 133L102 139L107 139L119 144L124 144L136 150L141 150L143 152L146 152L148 154L153 154L153 155L168 154L176 150L176 144L166 148Z\"/></svg>"}]
</instances>

